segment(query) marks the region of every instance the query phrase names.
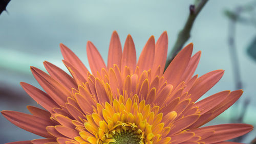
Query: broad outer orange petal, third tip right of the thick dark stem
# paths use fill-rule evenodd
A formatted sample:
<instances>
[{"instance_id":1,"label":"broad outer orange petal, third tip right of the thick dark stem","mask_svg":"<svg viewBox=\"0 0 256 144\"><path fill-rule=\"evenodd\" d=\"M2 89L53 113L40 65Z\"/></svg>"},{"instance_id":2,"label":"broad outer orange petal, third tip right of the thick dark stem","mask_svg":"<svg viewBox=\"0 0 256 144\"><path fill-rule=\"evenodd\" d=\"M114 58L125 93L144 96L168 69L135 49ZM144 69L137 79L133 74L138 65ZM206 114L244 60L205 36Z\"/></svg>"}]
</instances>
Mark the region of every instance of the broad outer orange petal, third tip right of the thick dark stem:
<instances>
[{"instance_id":1,"label":"broad outer orange petal, third tip right of the thick dark stem","mask_svg":"<svg viewBox=\"0 0 256 144\"><path fill-rule=\"evenodd\" d=\"M188 94L191 94L191 101L196 102L205 92L207 92L221 79L223 74L224 70L214 70L198 78L188 91Z\"/></svg>"}]
</instances>

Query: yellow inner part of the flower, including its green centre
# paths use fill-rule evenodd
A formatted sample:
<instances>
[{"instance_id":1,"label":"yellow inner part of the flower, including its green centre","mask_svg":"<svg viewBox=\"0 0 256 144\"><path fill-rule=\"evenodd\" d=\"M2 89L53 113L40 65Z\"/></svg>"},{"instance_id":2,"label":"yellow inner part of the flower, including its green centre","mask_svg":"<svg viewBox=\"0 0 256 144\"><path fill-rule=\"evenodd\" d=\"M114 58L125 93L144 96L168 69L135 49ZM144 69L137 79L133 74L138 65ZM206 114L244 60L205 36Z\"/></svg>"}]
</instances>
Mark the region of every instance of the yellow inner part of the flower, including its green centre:
<instances>
[{"instance_id":1,"label":"yellow inner part of the flower, including its green centre","mask_svg":"<svg viewBox=\"0 0 256 144\"><path fill-rule=\"evenodd\" d=\"M80 139L87 139L90 143L156 143L168 142L166 137L169 127L164 127L162 113L159 107L146 105L142 100L138 103L138 96L124 99L114 99L112 103L97 104L94 113L87 115L84 127L87 132L80 132ZM164 137L162 139L162 137Z\"/></svg>"}]
</instances>

